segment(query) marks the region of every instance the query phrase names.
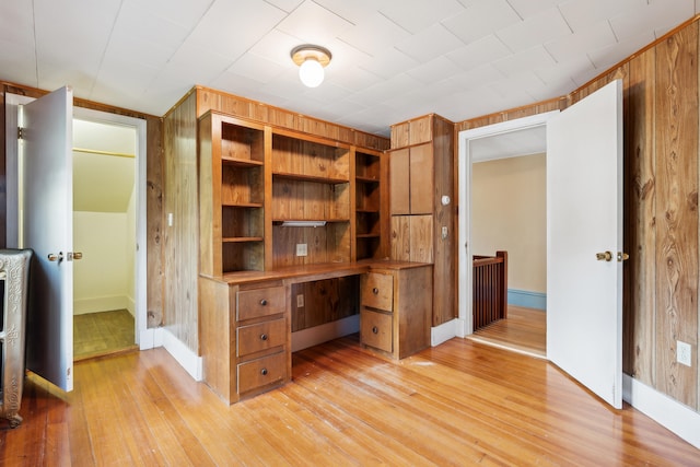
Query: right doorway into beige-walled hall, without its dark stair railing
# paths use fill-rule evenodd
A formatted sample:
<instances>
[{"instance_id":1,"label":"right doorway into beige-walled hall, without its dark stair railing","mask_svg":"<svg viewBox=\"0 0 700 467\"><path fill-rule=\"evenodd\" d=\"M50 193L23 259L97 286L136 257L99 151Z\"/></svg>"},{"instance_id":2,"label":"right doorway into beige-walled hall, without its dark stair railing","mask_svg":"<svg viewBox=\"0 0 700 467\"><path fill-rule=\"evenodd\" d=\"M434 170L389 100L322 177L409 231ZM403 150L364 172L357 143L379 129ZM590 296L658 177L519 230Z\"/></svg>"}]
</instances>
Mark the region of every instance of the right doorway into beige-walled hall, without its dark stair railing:
<instances>
[{"instance_id":1,"label":"right doorway into beige-walled hall, without its dark stair railing","mask_svg":"<svg viewBox=\"0 0 700 467\"><path fill-rule=\"evenodd\" d=\"M465 336L546 358L547 119L557 112L459 133L459 315ZM464 212L464 211L463 211ZM475 332L471 257L509 255L509 317Z\"/></svg>"}]
</instances>

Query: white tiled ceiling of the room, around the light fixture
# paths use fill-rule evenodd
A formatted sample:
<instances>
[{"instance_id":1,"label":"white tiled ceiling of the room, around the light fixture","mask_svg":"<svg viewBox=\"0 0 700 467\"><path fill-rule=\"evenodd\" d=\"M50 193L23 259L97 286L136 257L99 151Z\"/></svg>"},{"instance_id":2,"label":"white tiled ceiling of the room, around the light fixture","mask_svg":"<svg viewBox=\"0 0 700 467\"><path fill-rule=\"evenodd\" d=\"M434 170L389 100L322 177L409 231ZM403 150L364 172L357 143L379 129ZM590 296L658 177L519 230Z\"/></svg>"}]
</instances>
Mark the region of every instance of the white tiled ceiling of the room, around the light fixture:
<instances>
[{"instance_id":1,"label":"white tiled ceiling of the room, around the light fixture","mask_svg":"<svg viewBox=\"0 0 700 467\"><path fill-rule=\"evenodd\" d=\"M33 0L0 3L0 79L161 116L194 84L365 131L567 94L700 0ZM304 87L289 52L327 47Z\"/></svg>"}]
</instances>

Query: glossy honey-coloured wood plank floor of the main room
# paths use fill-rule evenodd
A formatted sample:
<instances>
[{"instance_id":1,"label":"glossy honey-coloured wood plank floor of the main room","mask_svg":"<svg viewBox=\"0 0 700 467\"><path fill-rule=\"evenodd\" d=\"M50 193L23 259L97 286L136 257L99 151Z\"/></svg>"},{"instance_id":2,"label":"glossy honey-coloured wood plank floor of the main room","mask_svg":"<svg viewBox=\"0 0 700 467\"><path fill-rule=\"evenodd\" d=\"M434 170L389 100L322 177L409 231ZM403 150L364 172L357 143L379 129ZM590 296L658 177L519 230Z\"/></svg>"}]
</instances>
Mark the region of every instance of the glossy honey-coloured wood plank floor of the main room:
<instances>
[{"instance_id":1,"label":"glossy honey-coloured wood plank floor of the main room","mask_svg":"<svg viewBox=\"0 0 700 467\"><path fill-rule=\"evenodd\" d=\"M639 411L540 359L455 338L402 361L355 336L293 355L293 382L228 406L164 349L30 375L3 466L699 465Z\"/></svg>"}]
</instances>

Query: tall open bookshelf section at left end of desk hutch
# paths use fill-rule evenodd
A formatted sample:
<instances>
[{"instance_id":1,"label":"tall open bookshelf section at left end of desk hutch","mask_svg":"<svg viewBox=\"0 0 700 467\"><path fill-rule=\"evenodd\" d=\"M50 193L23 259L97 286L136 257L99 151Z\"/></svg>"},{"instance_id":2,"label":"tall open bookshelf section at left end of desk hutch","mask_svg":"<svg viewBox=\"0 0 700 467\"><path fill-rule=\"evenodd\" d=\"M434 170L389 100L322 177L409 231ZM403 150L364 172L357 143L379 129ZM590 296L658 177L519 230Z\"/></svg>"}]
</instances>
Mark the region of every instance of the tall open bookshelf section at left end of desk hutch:
<instances>
[{"instance_id":1,"label":"tall open bookshelf section at left end of desk hutch","mask_svg":"<svg viewBox=\"0 0 700 467\"><path fill-rule=\"evenodd\" d=\"M265 129L217 113L199 120L200 272L265 268Z\"/></svg>"}]
</instances>

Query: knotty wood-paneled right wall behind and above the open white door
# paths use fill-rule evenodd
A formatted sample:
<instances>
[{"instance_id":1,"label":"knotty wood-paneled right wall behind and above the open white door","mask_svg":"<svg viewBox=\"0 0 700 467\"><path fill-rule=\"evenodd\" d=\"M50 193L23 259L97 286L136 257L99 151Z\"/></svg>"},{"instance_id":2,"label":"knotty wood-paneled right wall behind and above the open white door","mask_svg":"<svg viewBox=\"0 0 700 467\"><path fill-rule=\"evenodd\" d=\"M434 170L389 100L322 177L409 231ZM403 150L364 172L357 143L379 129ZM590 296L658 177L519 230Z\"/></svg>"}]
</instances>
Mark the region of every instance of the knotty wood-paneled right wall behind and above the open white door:
<instances>
[{"instance_id":1,"label":"knotty wood-paneled right wall behind and above the open white door","mask_svg":"<svg viewBox=\"0 0 700 467\"><path fill-rule=\"evenodd\" d=\"M700 409L698 390L698 22L628 58L565 97L457 124L457 131L563 109L623 81L623 371ZM456 173L456 172L455 172ZM692 366L676 362L676 341Z\"/></svg>"}]
</instances>

